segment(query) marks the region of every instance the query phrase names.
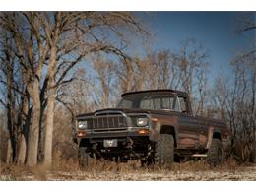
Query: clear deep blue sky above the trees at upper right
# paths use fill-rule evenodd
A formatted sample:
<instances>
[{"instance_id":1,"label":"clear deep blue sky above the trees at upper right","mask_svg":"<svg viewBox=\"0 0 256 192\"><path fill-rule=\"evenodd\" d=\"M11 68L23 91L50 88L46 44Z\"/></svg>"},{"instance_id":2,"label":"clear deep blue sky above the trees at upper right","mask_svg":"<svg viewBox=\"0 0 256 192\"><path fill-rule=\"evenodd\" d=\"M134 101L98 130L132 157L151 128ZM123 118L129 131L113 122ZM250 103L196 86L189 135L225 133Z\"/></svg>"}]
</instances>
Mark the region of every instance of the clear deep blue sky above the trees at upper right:
<instances>
[{"instance_id":1,"label":"clear deep blue sky above the trees at upper right","mask_svg":"<svg viewBox=\"0 0 256 192\"><path fill-rule=\"evenodd\" d=\"M152 48L178 50L182 41L194 38L209 50L210 84L219 73L230 74L235 52L249 47L251 38L238 34L241 12L150 12L136 13L154 35Z\"/></svg>"}]
</instances>

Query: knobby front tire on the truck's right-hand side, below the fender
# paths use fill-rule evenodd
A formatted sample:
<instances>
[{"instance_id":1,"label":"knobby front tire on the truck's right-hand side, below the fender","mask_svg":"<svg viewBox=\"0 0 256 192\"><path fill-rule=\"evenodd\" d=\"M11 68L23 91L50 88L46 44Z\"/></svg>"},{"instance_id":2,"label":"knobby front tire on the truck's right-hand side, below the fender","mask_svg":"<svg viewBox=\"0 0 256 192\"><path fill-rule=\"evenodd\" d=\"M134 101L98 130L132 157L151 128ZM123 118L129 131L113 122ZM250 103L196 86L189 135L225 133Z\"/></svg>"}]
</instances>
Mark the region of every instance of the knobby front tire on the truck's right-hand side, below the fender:
<instances>
[{"instance_id":1,"label":"knobby front tire on the truck's right-hand side, below the fender","mask_svg":"<svg viewBox=\"0 0 256 192\"><path fill-rule=\"evenodd\" d=\"M170 168L174 161L174 138L160 134L155 148L155 163L159 167Z\"/></svg>"}]
</instances>

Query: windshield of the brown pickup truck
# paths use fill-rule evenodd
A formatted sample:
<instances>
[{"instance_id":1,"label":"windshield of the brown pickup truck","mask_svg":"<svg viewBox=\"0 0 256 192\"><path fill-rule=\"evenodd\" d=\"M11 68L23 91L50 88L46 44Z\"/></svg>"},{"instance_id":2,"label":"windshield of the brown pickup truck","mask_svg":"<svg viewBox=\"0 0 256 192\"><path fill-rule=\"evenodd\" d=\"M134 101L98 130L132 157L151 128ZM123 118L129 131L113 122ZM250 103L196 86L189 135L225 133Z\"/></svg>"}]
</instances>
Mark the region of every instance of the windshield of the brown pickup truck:
<instances>
[{"instance_id":1,"label":"windshield of the brown pickup truck","mask_svg":"<svg viewBox=\"0 0 256 192\"><path fill-rule=\"evenodd\" d=\"M173 110L180 111L178 97L168 96L124 96L118 108L137 108L149 110Z\"/></svg>"}]
</instances>

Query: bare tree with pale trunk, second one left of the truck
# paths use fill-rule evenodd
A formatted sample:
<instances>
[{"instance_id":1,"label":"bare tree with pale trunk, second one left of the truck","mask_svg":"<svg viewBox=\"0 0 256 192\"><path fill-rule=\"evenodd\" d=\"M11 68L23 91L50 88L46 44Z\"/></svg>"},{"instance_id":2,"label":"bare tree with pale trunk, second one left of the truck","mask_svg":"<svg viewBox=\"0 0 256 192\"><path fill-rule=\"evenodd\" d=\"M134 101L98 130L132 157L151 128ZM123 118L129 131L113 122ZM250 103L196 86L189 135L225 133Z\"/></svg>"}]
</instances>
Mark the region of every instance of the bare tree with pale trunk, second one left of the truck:
<instances>
[{"instance_id":1,"label":"bare tree with pale trunk, second one left of the truck","mask_svg":"<svg viewBox=\"0 0 256 192\"><path fill-rule=\"evenodd\" d=\"M13 52L22 66L23 83L32 98L32 126L28 136L27 164L37 163L39 122L41 113L40 78L47 49L43 44L38 20L34 13L2 13L1 28L11 32L14 39Z\"/></svg>"}]
</instances>

